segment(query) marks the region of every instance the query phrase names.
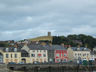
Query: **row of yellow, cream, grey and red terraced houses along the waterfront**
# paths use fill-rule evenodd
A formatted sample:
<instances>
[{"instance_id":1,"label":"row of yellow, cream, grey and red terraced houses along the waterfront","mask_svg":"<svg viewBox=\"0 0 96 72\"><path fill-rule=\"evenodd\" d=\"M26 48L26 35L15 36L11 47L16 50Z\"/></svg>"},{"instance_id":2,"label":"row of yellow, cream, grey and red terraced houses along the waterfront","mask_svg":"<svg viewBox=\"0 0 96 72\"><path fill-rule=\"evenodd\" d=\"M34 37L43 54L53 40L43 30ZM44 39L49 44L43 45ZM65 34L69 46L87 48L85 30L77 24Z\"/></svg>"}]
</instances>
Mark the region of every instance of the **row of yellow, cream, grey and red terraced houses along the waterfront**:
<instances>
[{"instance_id":1,"label":"row of yellow, cream, grey and red terraced houses along the waterfront","mask_svg":"<svg viewBox=\"0 0 96 72\"><path fill-rule=\"evenodd\" d=\"M85 47L63 45L24 44L21 47L0 48L0 63L59 63L93 59L91 50Z\"/></svg>"}]
</instances>

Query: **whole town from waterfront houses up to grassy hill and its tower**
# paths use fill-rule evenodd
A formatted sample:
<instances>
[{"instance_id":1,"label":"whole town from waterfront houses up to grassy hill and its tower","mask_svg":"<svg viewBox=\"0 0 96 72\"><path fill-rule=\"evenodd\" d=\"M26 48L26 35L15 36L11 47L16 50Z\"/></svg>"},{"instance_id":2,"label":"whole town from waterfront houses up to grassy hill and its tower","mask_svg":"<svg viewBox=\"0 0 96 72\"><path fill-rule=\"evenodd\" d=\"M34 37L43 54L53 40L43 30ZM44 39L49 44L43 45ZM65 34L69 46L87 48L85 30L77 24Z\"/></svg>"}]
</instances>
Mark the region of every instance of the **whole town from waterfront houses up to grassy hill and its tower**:
<instances>
[{"instance_id":1,"label":"whole town from waterfront houses up to grassy hill and its tower","mask_svg":"<svg viewBox=\"0 0 96 72\"><path fill-rule=\"evenodd\" d=\"M50 43L40 42L49 40ZM46 64L46 63L79 63L96 60L96 49L71 45L53 45L51 32L48 36L19 42L9 41L10 47L0 47L0 63L4 64Z\"/></svg>"}]
</instances>

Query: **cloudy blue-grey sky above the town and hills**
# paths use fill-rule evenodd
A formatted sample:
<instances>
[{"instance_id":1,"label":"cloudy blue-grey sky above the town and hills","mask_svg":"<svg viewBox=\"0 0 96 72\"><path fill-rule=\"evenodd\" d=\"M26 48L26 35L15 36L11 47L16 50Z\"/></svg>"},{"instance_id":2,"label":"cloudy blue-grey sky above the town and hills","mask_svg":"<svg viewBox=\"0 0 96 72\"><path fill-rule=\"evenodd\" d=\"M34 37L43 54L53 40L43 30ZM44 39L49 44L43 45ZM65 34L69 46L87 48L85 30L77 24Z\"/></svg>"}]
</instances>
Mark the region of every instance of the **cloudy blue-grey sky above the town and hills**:
<instances>
[{"instance_id":1,"label":"cloudy blue-grey sky above the town and hills","mask_svg":"<svg viewBox=\"0 0 96 72\"><path fill-rule=\"evenodd\" d=\"M0 40L87 34L96 37L96 0L0 0Z\"/></svg>"}]
</instances>

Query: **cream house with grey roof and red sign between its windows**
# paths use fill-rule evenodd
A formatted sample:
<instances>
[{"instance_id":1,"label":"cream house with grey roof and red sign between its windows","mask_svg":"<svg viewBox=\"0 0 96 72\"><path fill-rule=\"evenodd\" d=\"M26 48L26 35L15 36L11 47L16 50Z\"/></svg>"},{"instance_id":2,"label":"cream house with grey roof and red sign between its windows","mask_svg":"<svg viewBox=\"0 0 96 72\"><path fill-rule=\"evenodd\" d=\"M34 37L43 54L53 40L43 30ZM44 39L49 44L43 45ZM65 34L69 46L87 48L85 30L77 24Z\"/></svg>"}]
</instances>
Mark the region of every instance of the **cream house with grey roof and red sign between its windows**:
<instances>
[{"instance_id":1,"label":"cream house with grey roof and red sign between its windows","mask_svg":"<svg viewBox=\"0 0 96 72\"><path fill-rule=\"evenodd\" d=\"M30 45L30 63L34 62L48 62L48 51L41 45Z\"/></svg>"}]
</instances>

